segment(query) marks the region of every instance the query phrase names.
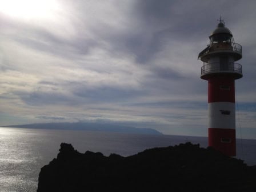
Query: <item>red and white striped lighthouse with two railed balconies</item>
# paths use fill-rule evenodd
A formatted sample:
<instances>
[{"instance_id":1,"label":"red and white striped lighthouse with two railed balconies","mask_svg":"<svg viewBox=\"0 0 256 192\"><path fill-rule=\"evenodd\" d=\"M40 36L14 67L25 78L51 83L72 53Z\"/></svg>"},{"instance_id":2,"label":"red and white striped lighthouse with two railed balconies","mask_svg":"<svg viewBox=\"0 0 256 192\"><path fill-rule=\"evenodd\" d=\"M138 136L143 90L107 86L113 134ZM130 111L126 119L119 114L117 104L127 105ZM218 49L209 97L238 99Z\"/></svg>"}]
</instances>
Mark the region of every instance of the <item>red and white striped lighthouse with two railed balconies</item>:
<instances>
[{"instance_id":1,"label":"red and white striped lighthouse with two railed balconies","mask_svg":"<svg viewBox=\"0 0 256 192\"><path fill-rule=\"evenodd\" d=\"M235 80L242 78L242 46L234 42L231 31L220 18L202 50L201 78L208 81L208 145L228 156L236 155Z\"/></svg>"}]
</instances>

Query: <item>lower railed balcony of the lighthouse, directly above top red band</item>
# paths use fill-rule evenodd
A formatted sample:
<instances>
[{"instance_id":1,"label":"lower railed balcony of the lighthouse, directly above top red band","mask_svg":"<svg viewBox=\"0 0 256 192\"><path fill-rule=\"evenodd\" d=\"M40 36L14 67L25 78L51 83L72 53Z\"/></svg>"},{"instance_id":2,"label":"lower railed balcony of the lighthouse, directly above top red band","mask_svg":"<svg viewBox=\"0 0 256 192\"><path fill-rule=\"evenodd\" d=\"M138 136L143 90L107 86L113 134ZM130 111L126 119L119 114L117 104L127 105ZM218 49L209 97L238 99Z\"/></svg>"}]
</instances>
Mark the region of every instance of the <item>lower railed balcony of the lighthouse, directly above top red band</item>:
<instances>
[{"instance_id":1,"label":"lower railed balcony of the lighthouse, directly above top red band","mask_svg":"<svg viewBox=\"0 0 256 192\"><path fill-rule=\"evenodd\" d=\"M202 79L223 75L232 76L234 79L242 78L242 65L239 63L226 63L226 65L220 65L220 63L204 63L201 68Z\"/></svg>"}]
</instances>

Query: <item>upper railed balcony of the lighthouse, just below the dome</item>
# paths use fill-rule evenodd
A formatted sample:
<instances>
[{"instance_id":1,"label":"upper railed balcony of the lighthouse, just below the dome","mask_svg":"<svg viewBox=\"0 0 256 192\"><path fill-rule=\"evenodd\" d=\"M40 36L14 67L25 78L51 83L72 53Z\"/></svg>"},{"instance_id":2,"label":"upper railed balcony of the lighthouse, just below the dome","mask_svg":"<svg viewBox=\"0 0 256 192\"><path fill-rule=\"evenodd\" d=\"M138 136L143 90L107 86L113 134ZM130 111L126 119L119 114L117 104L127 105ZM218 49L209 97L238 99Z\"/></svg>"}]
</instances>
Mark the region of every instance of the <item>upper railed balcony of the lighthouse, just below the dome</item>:
<instances>
[{"instance_id":1,"label":"upper railed balcony of the lighthouse, just below the dome","mask_svg":"<svg viewBox=\"0 0 256 192\"><path fill-rule=\"evenodd\" d=\"M242 46L234 42L216 42L208 45L198 55L198 59L203 62L209 60L210 55L214 54L232 54L235 61L242 58Z\"/></svg>"}]
</instances>

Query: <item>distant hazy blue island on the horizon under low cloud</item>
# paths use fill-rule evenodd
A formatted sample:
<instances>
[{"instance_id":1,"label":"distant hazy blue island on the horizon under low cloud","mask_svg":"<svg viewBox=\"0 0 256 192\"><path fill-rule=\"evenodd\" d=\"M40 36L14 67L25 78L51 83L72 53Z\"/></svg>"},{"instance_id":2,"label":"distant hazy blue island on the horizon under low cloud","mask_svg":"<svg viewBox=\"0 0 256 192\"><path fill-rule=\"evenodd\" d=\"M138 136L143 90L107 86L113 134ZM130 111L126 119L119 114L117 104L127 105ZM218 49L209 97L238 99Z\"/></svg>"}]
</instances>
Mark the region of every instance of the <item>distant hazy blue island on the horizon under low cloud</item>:
<instances>
[{"instance_id":1,"label":"distant hazy blue island on the horizon under low cloud","mask_svg":"<svg viewBox=\"0 0 256 192\"><path fill-rule=\"evenodd\" d=\"M161 132L150 128L136 128L131 126L113 125L110 123L33 123L26 125L9 125L3 127L31 128L31 129L63 129L63 130L86 130L86 131L108 131L118 133L136 133L136 134L162 134Z\"/></svg>"}]
</instances>

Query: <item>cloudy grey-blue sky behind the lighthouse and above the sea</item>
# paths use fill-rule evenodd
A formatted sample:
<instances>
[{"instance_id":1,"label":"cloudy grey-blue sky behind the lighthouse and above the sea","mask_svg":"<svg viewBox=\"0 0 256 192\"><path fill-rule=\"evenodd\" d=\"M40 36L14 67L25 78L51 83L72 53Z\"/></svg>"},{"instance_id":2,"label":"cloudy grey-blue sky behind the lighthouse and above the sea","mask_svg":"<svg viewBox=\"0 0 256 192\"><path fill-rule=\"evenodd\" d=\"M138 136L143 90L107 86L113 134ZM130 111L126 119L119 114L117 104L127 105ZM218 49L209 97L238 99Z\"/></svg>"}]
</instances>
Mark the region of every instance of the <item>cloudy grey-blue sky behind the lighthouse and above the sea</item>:
<instances>
[{"instance_id":1,"label":"cloudy grey-blue sky behind the lighthouse and above the sea","mask_svg":"<svg viewBox=\"0 0 256 192\"><path fill-rule=\"evenodd\" d=\"M206 136L198 53L242 45L237 134L256 139L256 1L0 0L0 126L99 122Z\"/></svg>"}]
</instances>

